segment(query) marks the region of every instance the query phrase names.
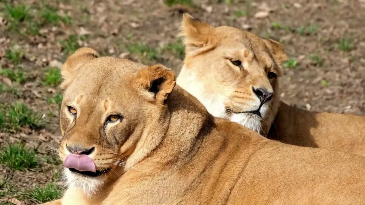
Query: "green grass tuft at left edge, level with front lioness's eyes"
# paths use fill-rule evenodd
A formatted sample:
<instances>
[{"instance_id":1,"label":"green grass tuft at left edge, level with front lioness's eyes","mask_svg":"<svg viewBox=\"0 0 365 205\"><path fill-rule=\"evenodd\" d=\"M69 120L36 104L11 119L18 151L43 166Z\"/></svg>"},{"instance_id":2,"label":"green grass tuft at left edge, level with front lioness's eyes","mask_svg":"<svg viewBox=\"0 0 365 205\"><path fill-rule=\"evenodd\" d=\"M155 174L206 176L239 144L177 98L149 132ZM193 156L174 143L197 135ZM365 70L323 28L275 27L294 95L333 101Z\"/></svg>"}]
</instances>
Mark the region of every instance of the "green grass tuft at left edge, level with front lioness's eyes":
<instances>
[{"instance_id":1,"label":"green grass tuft at left edge, level with front lioness's eyes","mask_svg":"<svg viewBox=\"0 0 365 205\"><path fill-rule=\"evenodd\" d=\"M42 116L32 111L22 102L13 102L10 105L0 105L0 131L16 132L21 127L32 129L43 125Z\"/></svg>"}]
</instances>

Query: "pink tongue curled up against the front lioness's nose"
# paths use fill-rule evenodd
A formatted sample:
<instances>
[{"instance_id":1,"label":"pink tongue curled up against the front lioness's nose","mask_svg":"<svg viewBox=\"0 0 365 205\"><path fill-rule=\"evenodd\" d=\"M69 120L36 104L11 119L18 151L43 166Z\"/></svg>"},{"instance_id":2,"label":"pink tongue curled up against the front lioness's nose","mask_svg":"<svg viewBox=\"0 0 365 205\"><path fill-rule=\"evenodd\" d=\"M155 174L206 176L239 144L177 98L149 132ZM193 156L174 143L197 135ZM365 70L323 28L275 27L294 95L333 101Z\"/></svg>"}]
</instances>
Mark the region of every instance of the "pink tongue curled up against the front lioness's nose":
<instances>
[{"instance_id":1,"label":"pink tongue curled up against the front lioness's nose","mask_svg":"<svg viewBox=\"0 0 365 205\"><path fill-rule=\"evenodd\" d=\"M74 168L78 171L96 172L94 161L85 154L69 154L65 159L66 168Z\"/></svg>"}]
</instances>

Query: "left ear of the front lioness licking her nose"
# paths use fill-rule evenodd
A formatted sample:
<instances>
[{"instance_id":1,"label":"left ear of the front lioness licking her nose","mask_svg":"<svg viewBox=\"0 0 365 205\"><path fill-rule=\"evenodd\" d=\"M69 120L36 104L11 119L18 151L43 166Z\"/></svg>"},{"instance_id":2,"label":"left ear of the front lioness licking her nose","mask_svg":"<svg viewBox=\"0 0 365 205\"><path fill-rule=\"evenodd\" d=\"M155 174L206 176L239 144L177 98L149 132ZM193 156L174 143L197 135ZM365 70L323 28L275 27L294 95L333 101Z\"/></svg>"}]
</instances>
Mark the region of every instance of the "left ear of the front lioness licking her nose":
<instances>
[{"instance_id":1,"label":"left ear of the front lioness licking her nose","mask_svg":"<svg viewBox=\"0 0 365 205\"><path fill-rule=\"evenodd\" d=\"M99 54L94 49L87 47L82 47L74 54L70 55L62 66L61 76L63 81L59 87L61 89L66 89L74 79L75 73L80 66L95 58L99 58Z\"/></svg>"}]
</instances>

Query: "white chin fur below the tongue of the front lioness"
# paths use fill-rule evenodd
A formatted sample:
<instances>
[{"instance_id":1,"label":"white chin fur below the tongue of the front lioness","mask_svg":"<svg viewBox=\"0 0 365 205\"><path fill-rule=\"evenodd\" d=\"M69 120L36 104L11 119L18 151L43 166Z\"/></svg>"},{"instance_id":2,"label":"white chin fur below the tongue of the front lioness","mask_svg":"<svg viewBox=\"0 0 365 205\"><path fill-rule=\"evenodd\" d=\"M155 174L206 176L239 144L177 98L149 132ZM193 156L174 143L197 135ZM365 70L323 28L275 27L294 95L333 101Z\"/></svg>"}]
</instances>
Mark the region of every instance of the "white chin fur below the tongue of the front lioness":
<instances>
[{"instance_id":1,"label":"white chin fur below the tongue of the front lioness","mask_svg":"<svg viewBox=\"0 0 365 205\"><path fill-rule=\"evenodd\" d=\"M72 173L69 169L64 169L64 178L68 186L77 187L84 190L85 195L90 198L96 194L99 187L103 185L102 177L83 177L79 174Z\"/></svg>"}]
</instances>

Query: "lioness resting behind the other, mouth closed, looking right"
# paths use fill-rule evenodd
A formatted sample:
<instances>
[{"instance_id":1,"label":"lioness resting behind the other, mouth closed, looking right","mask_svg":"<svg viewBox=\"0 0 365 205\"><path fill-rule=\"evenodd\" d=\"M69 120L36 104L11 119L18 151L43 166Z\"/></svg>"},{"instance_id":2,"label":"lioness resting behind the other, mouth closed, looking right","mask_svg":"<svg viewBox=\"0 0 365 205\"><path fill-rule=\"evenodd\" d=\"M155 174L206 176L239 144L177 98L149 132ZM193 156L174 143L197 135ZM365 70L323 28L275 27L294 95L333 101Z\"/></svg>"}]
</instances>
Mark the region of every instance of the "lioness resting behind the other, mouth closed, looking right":
<instances>
[{"instance_id":1,"label":"lioness resting behind the other, mouth closed, looking right","mask_svg":"<svg viewBox=\"0 0 365 205\"><path fill-rule=\"evenodd\" d=\"M186 58L177 84L208 112L284 143L365 156L365 117L309 112L280 102L283 46L185 14ZM271 127L271 129L270 129Z\"/></svg>"}]
</instances>

